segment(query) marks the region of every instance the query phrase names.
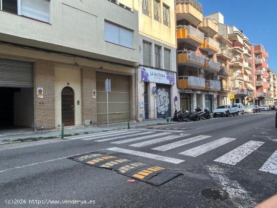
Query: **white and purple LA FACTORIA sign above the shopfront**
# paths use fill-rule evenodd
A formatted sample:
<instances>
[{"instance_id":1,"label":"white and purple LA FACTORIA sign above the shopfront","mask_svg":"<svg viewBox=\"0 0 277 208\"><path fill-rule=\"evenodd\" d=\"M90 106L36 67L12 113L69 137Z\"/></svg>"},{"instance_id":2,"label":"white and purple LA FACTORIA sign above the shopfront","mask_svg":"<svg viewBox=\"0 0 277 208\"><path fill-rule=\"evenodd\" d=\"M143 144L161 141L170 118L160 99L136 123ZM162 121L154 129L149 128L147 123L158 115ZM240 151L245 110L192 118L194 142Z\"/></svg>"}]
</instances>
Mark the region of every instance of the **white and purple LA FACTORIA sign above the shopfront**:
<instances>
[{"instance_id":1,"label":"white and purple LA FACTORIA sign above the shopfront","mask_svg":"<svg viewBox=\"0 0 277 208\"><path fill-rule=\"evenodd\" d=\"M142 81L174 85L175 74L160 70L153 70L153 68L142 67Z\"/></svg>"}]
</instances>

